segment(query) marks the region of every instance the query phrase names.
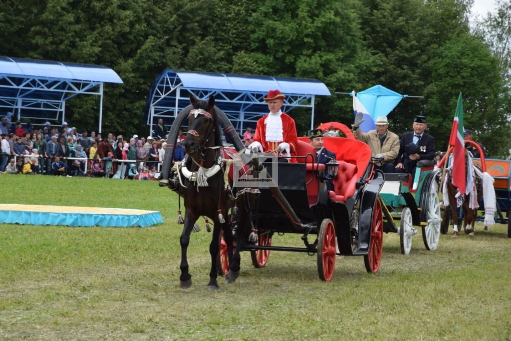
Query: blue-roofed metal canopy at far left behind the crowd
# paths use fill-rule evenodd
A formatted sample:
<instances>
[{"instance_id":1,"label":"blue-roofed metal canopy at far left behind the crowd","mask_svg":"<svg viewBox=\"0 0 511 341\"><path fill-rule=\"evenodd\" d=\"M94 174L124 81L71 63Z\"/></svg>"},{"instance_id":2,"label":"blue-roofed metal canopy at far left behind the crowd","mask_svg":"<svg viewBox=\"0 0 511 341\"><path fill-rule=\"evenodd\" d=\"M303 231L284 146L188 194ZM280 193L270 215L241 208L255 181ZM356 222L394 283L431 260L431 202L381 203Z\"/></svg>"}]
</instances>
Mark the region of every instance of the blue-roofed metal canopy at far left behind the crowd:
<instances>
[{"instance_id":1,"label":"blue-roofed metal canopy at far left behind the crowd","mask_svg":"<svg viewBox=\"0 0 511 341\"><path fill-rule=\"evenodd\" d=\"M100 97L99 132L103 116L103 83L123 81L101 65L0 57L0 108L17 119L65 121L65 103L77 95Z\"/></svg>"}]
</instances>

